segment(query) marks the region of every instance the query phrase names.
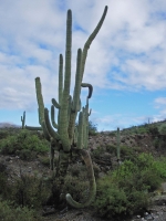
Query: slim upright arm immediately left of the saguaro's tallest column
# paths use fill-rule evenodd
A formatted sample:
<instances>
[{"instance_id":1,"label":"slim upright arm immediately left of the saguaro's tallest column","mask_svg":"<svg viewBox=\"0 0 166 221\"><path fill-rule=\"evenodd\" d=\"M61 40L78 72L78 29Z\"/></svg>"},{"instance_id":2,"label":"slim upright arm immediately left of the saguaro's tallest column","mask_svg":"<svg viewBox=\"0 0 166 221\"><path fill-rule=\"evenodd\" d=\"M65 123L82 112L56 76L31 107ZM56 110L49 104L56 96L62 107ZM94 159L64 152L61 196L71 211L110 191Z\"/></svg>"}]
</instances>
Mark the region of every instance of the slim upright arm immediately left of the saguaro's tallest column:
<instances>
[{"instance_id":1,"label":"slim upright arm immediately left of the saguaro's tallest column","mask_svg":"<svg viewBox=\"0 0 166 221\"><path fill-rule=\"evenodd\" d=\"M63 56L60 54L60 64L59 64L59 104L62 101L63 94Z\"/></svg>"}]
</instances>

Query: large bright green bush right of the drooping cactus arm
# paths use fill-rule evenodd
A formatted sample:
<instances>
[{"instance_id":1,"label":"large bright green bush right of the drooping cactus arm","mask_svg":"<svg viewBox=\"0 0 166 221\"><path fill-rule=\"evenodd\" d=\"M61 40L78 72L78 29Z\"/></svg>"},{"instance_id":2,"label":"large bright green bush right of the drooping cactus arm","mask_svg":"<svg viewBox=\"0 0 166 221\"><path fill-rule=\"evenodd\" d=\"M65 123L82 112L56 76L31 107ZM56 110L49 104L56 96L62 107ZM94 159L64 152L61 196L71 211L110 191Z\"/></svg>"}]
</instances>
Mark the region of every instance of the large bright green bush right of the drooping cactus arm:
<instances>
[{"instance_id":1,"label":"large bright green bush right of the drooping cactus arm","mask_svg":"<svg viewBox=\"0 0 166 221\"><path fill-rule=\"evenodd\" d=\"M154 161L152 155L141 154L97 180L93 207L100 215L131 215L147 208L151 191L160 186L162 175L165 176Z\"/></svg>"}]
</instances>

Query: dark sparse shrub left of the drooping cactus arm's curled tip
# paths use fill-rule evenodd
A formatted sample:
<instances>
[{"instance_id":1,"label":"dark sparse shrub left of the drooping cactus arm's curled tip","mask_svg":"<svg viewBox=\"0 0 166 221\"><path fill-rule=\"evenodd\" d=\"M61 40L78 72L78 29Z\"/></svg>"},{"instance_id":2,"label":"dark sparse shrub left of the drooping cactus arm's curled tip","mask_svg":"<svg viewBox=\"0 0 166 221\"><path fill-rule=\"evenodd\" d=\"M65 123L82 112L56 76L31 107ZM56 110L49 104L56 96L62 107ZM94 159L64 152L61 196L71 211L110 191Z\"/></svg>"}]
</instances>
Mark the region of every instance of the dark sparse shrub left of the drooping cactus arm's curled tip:
<instances>
[{"instance_id":1,"label":"dark sparse shrub left of the drooping cactus arm's curled tip","mask_svg":"<svg viewBox=\"0 0 166 221\"><path fill-rule=\"evenodd\" d=\"M8 181L1 192L3 199L13 201L17 206L38 209L46 202L51 194L50 186L37 175L21 175Z\"/></svg>"}]
</instances>

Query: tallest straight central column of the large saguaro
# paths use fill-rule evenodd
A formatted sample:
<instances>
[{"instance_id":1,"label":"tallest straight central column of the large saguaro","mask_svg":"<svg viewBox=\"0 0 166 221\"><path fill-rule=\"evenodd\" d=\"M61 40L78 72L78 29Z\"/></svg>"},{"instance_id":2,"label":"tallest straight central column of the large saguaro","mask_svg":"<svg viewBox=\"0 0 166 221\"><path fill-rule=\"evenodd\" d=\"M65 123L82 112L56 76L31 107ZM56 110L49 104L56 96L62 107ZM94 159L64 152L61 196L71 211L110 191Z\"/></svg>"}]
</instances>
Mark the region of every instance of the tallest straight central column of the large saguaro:
<instances>
[{"instance_id":1,"label":"tallest straight central column of the large saguaro","mask_svg":"<svg viewBox=\"0 0 166 221\"><path fill-rule=\"evenodd\" d=\"M69 96L70 96L70 85L71 85L71 46L72 46L72 11L68 10L66 20L66 46L65 46L65 78L64 88L61 102L61 113L60 113L60 137L62 140L62 146L64 151L70 151L71 144L69 139L68 128L68 110L69 110Z\"/></svg>"}]
</instances>

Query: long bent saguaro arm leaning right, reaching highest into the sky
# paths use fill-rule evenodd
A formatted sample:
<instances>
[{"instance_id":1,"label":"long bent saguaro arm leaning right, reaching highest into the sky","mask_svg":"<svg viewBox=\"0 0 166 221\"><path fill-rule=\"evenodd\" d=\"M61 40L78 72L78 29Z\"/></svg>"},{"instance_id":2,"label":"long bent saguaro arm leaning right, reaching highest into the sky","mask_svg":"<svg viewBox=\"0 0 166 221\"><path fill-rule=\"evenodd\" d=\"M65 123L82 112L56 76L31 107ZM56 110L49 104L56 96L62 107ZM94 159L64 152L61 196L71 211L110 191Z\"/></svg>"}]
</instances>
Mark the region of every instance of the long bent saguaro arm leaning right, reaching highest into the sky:
<instances>
[{"instance_id":1,"label":"long bent saguaro arm leaning right, reaching highest into the sky","mask_svg":"<svg viewBox=\"0 0 166 221\"><path fill-rule=\"evenodd\" d=\"M96 34L98 33L98 31L100 31L100 29L101 29L101 27L102 27L102 24L104 22L106 12L107 12L107 6L104 9L103 15L102 15L98 24L96 25L96 28L94 29L94 31L92 32L92 34L89 36L87 41L84 44L83 56L82 56L82 78L83 78L83 73L84 73L84 69L85 69L85 62L86 62L87 51L90 49L90 45L91 45L92 41L94 40L94 38L96 36Z\"/></svg>"}]
</instances>

